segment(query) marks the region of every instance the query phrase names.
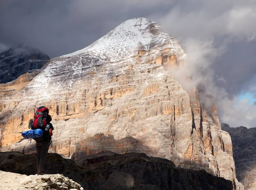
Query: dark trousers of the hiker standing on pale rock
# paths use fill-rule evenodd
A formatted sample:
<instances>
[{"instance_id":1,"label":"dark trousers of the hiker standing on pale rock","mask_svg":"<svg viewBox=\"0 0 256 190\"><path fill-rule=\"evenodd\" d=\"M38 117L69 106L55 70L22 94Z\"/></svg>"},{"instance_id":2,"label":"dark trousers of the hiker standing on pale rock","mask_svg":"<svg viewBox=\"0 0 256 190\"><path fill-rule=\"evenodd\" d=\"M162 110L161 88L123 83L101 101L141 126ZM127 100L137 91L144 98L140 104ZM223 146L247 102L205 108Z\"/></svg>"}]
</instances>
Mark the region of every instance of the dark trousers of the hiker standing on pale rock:
<instances>
[{"instance_id":1,"label":"dark trousers of the hiker standing on pale rock","mask_svg":"<svg viewBox=\"0 0 256 190\"><path fill-rule=\"evenodd\" d=\"M36 167L38 174L44 173L44 164L46 162L46 156L49 150L48 141L36 142Z\"/></svg>"}]
</instances>

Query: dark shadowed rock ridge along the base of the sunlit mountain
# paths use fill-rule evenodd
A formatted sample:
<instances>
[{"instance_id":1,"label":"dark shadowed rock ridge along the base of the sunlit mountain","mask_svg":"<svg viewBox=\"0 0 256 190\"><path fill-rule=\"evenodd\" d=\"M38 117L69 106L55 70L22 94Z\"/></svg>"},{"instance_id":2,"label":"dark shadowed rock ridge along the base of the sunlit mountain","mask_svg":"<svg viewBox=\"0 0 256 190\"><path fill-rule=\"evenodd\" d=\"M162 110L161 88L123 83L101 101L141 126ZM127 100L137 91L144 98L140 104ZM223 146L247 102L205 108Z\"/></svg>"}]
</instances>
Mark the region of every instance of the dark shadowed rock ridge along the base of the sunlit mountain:
<instances>
[{"instance_id":1,"label":"dark shadowed rock ridge along the base of the sunlit mountain","mask_svg":"<svg viewBox=\"0 0 256 190\"><path fill-rule=\"evenodd\" d=\"M0 153L0 158L0 170L26 175L35 172L35 154L7 152ZM69 177L81 184L85 190L233 190L233 184L229 180L212 176L204 170L177 168L172 161L149 157L144 153L118 155L105 151L87 156L85 152L79 151L74 153L72 158L80 167L73 160L49 153L45 166L47 173L63 173L63 176L44 175L43 180L39 180L42 182L37 186L49 187L52 190L61 189L57 186L61 181L64 182L63 186L69 187L68 189L71 189L72 184L75 186L73 188L79 189L79 185L72 180L69 183ZM32 176L29 179L32 182L34 178ZM24 182L28 188L32 185L29 184L30 181Z\"/></svg>"}]
</instances>

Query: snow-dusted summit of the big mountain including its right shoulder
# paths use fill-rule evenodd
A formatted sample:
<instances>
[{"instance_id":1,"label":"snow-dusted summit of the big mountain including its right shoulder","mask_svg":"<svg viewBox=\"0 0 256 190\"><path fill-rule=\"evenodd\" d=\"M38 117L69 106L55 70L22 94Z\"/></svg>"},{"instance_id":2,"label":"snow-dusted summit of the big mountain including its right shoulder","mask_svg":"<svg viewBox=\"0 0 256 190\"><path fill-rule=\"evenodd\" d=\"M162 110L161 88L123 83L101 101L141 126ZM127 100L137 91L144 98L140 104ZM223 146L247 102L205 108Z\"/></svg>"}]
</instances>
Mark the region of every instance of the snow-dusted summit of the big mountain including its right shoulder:
<instances>
[{"instance_id":1,"label":"snow-dusted summit of the big mountain including its right shoulder","mask_svg":"<svg viewBox=\"0 0 256 190\"><path fill-rule=\"evenodd\" d=\"M102 55L108 61L116 61L125 56L130 57L134 53L136 54L138 49L148 51L151 47L166 43L165 48L168 47L175 54L179 54L179 60L186 58L186 54L177 41L172 36L160 31L160 26L146 18L130 19L121 23L90 46L61 57L67 58L90 52ZM172 43L169 43L170 41ZM156 57L157 53L159 51L151 56Z\"/></svg>"}]
</instances>

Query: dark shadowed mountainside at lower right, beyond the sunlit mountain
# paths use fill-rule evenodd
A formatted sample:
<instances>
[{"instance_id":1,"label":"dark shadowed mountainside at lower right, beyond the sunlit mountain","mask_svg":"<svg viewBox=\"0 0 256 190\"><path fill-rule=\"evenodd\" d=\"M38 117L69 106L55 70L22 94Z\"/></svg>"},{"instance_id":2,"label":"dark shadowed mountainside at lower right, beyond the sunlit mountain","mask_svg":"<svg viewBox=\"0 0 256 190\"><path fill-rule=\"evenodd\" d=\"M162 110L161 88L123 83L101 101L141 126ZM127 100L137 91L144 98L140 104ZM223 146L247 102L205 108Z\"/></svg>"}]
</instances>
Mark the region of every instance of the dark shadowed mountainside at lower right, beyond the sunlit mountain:
<instances>
[{"instance_id":1,"label":"dark shadowed mountainside at lower right, beyond the sunlit mountain","mask_svg":"<svg viewBox=\"0 0 256 190\"><path fill-rule=\"evenodd\" d=\"M232 140L237 179L246 190L256 189L256 128L229 127L221 124Z\"/></svg>"}]
</instances>

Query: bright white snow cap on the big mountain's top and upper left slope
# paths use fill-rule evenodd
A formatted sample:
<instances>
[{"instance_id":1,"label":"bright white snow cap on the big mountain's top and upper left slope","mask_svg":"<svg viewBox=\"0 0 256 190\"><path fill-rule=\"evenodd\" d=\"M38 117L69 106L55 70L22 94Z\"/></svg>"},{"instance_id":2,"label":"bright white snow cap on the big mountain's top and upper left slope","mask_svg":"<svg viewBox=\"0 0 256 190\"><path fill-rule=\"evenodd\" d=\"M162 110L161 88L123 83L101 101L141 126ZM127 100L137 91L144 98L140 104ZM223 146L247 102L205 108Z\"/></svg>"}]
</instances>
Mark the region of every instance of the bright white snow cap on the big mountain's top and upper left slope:
<instances>
[{"instance_id":1,"label":"bright white snow cap on the big mountain's top and upper left slope","mask_svg":"<svg viewBox=\"0 0 256 190\"><path fill-rule=\"evenodd\" d=\"M104 53L107 49L112 49L113 55L116 55L119 51L116 47L122 47L122 51L124 51L123 53L131 52L136 49L139 44L144 46L148 45L152 40L152 37L160 32L160 29L160 26L146 18L129 19L119 26L116 26L116 28L92 43L90 46L61 57L67 58L87 52L100 51Z\"/></svg>"}]
</instances>

